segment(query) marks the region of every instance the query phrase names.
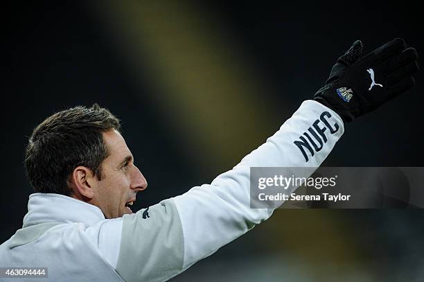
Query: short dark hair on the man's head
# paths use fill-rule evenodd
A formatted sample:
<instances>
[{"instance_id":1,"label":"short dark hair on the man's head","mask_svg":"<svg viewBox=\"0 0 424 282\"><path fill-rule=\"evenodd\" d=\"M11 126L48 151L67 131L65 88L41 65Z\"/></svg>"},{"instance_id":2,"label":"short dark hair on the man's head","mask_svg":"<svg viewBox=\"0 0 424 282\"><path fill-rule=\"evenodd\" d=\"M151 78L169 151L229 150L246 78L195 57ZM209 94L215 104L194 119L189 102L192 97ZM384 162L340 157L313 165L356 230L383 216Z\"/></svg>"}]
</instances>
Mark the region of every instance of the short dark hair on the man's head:
<instances>
[{"instance_id":1,"label":"short dark hair on the man's head","mask_svg":"<svg viewBox=\"0 0 424 282\"><path fill-rule=\"evenodd\" d=\"M120 130L118 118L94 104L49 116L33 131L25 154L26 173L35 192L71 195L68 181L78 166L101 179L101 164L109 155L103 132Z\"/></svg>"}]
</instances>

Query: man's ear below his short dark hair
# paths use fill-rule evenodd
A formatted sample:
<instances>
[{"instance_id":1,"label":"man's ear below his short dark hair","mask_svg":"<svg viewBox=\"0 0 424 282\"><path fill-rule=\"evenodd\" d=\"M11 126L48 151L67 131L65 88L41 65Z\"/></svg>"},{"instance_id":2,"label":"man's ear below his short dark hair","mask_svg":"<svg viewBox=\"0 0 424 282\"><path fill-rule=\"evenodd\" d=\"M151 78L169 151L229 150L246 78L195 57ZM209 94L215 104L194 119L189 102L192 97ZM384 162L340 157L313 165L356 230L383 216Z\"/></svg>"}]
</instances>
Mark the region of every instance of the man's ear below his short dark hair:
<instances>
[{"instance_id":1,"label":"man's ear below his short dark hair","mask_svg":"<svg viewBox=\"0 0 424 282\"><path fill-rule=\"evenodd\" d=\"M91 200L94 197L94 188L96 188L96 179L91 169L85 166L78 166L71 175L71 184L73 193L82 195Z\"/></svg>"}]
</instances>

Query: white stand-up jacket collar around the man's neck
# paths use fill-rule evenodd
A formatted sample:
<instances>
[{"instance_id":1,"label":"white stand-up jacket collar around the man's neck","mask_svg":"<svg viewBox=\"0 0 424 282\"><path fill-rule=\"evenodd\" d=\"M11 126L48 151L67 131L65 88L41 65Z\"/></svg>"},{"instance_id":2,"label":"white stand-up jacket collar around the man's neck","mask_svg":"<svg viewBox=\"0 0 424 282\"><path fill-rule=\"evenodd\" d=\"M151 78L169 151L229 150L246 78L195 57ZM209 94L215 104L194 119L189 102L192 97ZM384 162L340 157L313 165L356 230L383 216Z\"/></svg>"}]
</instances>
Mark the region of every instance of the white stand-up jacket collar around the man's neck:
<instances>
[{"instance_id":1,"label":"white stand-up jacket collar around the man's neck","mask_svg":"<svg viewBox=\"0 0 424 282\"><path fill-rule=\"evenodd\" d=\"M34 193L29 196L23 227L45 222L82 222L91 225L104 219L102 211L92 204L60 194Z\"/></svg>"}]
</instances>

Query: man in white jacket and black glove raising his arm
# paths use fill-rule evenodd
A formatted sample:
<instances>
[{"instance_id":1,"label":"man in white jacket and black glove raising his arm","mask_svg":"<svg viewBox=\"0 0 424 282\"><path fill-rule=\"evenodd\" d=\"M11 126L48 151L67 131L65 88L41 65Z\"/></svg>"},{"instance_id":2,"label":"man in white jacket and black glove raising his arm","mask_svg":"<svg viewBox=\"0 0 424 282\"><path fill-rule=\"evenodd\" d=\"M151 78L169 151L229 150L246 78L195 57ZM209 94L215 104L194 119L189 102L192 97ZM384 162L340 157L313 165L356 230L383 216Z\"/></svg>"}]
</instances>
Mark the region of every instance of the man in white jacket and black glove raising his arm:
<instances>
[{"instance_id":1,"label":"man in white jacket and black glove raising his arm","mask_svg":"<svg viewBox=\"0 0 424 282\"><path fill-rule=\"evenodd\" d=\"M48 267L48 281L170 279L272 215L249 206L251 167L317 168L344 123L414 87L416 71L403 39L365 56L355 42L314 100L240 164L136 213L130 206L148 184L118 119L98 105L53 114L30 137L25 164L37 193L22 229L0 246L0 265Z\"/></svg>"}]
</instances>

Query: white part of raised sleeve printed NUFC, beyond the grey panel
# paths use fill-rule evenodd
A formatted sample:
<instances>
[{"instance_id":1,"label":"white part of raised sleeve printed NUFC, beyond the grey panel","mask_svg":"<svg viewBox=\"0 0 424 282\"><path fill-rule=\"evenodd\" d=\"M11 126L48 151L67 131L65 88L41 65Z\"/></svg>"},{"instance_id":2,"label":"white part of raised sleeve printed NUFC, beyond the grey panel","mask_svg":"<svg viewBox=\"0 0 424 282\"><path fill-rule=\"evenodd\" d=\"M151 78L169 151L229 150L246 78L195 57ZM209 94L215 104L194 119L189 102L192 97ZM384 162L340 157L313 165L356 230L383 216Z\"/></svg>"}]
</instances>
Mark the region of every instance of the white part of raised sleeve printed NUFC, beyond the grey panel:
<instances>
[{"instance_id":1,"label":"white part of raised sleeve printed NUFC, beyond the grey panel","mask_svg":"<svg viewBox=\"0 0 424 282\"><path fill-rule=\"evenodd\" d=\"M319 132L325 134L326 142ZM273 209L250 209L251 167L317 168L343 132L343 121L335 112L306 100L278 132L232 170L222 173L211 184L191 188L175 197L184 233L184 270L272 214ZM322 143L319 148L315 141L319 151L312 144L314 134ZM308 171L312 174L314 170Z\"/></svg>"}]
</instances>

